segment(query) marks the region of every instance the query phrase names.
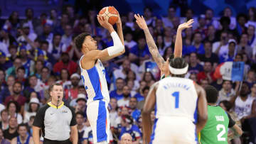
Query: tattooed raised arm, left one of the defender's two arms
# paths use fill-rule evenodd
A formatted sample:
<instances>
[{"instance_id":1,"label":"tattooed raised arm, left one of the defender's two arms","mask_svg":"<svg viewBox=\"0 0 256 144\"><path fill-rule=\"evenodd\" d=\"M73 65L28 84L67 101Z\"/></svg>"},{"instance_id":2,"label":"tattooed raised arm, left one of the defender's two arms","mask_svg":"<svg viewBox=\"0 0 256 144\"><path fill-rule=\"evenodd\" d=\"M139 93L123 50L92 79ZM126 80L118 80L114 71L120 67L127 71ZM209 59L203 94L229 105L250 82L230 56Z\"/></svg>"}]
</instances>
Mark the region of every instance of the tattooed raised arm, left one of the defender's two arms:
<instances>
[{"instance_id":1,"label":"tattooed raised arm, left one of the defender's two arms","mask_svg":"<svg viewBox=\"0 0 256 144\"><path fill-rule=\"evenodd\" d=\"M163 67L165 61L164 58L161 57L159 50L156 47L156 43L154 43L154 39L149 32L149 28L146 26L146 21L144 20L143 16L139 16L139 14L135 14L134 17L136 18L136 23L138 24L139 28L142 28L142 30L144 31L146 36L146 44L149 47L149 52L151 53L154 61L161 70L161 67Z\"/></svg>"}]
</instances>

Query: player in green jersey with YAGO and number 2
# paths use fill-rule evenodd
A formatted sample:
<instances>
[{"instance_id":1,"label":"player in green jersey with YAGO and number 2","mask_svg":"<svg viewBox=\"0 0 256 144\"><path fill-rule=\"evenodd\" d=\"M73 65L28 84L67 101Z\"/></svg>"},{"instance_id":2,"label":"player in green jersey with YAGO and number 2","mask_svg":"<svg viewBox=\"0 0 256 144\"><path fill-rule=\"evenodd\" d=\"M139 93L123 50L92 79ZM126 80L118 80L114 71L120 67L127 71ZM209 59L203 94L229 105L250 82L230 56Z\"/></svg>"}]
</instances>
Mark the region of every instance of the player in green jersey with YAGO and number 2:
<instances>
[{"instance_id":1,"label":"player in green jersey with YAGO and number 2","mask_svg":"<svg viewBox=\"0 0 256 144\"><path fill-rule=\"evenodd\" d=\"M228 144L228 128L233 128L235 135L242 135L241 128L230 115L216 105L218 90L213 86L205 87L208 103L208 121L198 134L200 144Z\"/></svg>"}]
</instances>

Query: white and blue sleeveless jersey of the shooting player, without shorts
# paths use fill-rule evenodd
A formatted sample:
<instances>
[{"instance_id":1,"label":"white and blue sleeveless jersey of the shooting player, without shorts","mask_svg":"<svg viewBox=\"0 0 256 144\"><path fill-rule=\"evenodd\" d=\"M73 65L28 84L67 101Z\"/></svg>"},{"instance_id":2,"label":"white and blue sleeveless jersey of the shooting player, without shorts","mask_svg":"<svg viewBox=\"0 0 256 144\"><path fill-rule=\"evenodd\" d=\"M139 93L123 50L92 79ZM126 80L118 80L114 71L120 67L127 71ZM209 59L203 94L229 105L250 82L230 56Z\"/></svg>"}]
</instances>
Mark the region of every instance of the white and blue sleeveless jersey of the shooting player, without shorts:
<instances>
[{"instance_id":1,"label":"white and blue sleeveless jersey of the shooting player, without shorts","mask_svg":"<svg viewBox=\"0 0 256 144\"><path fill-rule=\"evenodd\" d=\"M80 58L81 78L88 96L87 104L95 100L102 100L108 104L110 102L110 94L107 88L105 67L99 59L90 70L82 69L82 57Z\"/></svg>"}]
</instances>

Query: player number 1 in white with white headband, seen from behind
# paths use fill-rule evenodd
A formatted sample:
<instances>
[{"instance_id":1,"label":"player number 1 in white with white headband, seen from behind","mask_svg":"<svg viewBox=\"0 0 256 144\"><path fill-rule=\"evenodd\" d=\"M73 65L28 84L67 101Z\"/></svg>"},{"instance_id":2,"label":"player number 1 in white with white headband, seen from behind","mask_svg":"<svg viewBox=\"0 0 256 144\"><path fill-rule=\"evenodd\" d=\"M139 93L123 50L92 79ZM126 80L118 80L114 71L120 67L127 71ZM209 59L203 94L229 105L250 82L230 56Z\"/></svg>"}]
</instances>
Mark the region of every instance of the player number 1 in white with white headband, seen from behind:
<instances>
[{"instance_id":1,"label":"player number 1 in white with white headband, seen from behind","mask_svg":"<svg viewBox=\"0 0 256 144\"><path fill-rule=\"evenodd\" d=\"M169 71L171 77L156 82L146 96L142 112L144 142L196 144L196 132L207 121L206 92L191 79L183 78L188 71L183 58L171 55ZM154 107L156 120L151 135L150 113Z\"/></svg>"}]
</instances>

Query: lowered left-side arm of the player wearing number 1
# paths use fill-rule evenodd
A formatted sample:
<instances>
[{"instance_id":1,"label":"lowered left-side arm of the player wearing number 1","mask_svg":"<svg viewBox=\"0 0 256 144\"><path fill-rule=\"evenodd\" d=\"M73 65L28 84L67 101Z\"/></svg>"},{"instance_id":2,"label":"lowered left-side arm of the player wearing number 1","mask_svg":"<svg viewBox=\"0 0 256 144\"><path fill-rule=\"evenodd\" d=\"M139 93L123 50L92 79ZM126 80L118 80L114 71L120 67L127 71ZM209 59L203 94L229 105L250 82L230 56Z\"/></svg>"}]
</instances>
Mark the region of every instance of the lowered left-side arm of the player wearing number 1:
<instances>
[{"instance_id":1,"label":"lowered left-side arm of the player wearing number 1","mask_svg":"<svg viewBox=\"0 0 256 144\"><path fill-rule=\"evenodd\" d=\"M156 82L151 86L149 94L146 96L144 107L142 109L143 143L149 143L150 141L150 135L152 131L150 114L156 104L156 89L158 84L159 83Z\"/></svg>"}]
</instances>

